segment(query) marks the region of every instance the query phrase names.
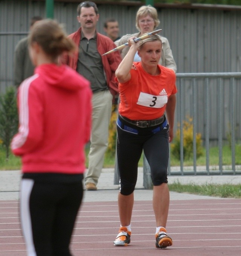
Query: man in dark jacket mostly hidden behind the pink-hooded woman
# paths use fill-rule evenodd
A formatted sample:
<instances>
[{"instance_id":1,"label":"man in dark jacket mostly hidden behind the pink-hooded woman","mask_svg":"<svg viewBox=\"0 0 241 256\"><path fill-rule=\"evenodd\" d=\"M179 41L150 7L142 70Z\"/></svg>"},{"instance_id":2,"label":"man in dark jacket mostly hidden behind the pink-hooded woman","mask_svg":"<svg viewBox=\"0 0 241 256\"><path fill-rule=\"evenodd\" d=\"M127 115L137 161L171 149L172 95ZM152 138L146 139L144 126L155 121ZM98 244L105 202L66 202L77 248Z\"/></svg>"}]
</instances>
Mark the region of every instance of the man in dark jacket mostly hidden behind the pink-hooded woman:
<instances>
[{"instance_id":1,"label":"man in dark jacket mostly hidden behind the pink-hooded woman","mask_svg":"<svg viewBox=\"0 0 241 256\"><path fill-rule=\"evenodd\" d=\"M34 16L30 21L30 30L36 21L42 20L40 16ZM28 36L22 38L14 51L14 85L20 86L21 82L34 74L34 66L29 57Z\"/></svg>"}]
</instances>

